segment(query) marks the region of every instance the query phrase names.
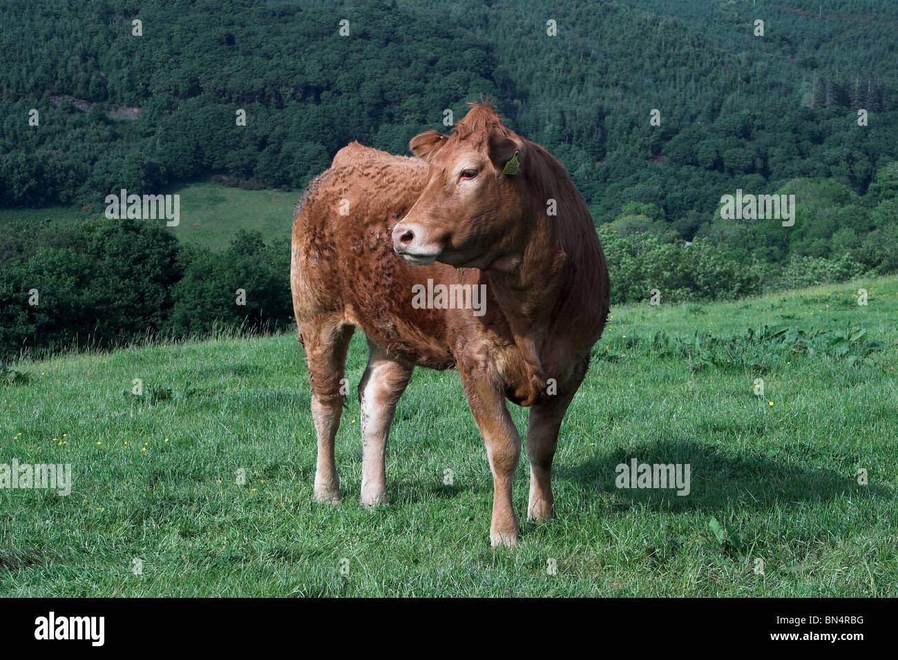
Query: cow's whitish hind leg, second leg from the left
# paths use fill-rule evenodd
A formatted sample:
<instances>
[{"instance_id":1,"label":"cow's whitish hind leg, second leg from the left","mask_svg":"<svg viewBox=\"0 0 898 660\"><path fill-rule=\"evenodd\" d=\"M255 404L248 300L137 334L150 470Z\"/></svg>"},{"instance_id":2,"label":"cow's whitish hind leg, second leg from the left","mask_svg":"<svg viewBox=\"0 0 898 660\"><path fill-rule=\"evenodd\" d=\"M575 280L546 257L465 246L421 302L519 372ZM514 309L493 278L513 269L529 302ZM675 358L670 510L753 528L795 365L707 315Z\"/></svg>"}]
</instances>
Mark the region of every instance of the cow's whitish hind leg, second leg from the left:
<instances>
[{"instance_id":1,"label":"cow's whitish hind leg, second leg from the left","mask_svg":"<svg viewBox=\"0 0 898 660\"><path fill-rule=\"evenodd\" d=\"M386 447L396 403L409 384L412 365L406 365L368 341L368 365L358 383L362 427L362 506L388 504Z\"/></svg>"}]
</instances>

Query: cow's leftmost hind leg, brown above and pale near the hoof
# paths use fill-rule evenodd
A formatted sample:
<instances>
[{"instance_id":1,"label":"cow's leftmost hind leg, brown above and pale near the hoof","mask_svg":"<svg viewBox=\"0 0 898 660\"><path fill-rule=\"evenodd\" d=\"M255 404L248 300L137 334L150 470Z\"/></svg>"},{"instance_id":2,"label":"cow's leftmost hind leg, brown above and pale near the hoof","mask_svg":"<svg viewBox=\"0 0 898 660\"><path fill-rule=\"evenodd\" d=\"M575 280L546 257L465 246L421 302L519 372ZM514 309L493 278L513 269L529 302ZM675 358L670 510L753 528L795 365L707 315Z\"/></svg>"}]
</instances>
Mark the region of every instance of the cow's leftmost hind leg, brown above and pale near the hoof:
<instances>
[{"instance_id":1,"label":"cow's leftmost hind leg, brown above and pale near the hoof","mask_svg":"<svg viewBox=\"0 0 898 660\"><path fill-rule=\"evenodd\" d=\"M312 385L312 419L318 436L318 461L315 465L315 498L319 502L338 503L340 499L334 438L346 392L340 381L346 364L349 339L355 328L340 319L325 319L304 325L300 334L309 365Z\"/></svg>"}]
</instances>

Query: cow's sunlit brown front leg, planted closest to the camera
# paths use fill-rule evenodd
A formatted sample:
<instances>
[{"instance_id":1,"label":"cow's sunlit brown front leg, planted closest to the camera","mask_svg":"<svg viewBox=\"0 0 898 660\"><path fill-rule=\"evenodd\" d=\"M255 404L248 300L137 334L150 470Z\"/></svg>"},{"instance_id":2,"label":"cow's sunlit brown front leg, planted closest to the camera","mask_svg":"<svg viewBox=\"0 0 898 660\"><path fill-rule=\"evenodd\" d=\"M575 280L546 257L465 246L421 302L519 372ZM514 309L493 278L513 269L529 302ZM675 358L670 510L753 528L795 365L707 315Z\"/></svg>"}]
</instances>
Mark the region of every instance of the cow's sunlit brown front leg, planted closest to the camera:
<instances>
[{"instance_id":1,"label":"cow's sunlit brown front leg, planted closest to the camera","mask_svg":"<svg viewBox=\"0 0 898 660\"><path fill-rule=\"evenodd\" d=\"M493 517L489 524L489 542L515 545L520 527L512 500L515 468L521 457L521 437L508 413L501 378L490 365L464 369L462 385L480 435L487 446L489 469L493 473Z\"/></svg>"}]
</instances>

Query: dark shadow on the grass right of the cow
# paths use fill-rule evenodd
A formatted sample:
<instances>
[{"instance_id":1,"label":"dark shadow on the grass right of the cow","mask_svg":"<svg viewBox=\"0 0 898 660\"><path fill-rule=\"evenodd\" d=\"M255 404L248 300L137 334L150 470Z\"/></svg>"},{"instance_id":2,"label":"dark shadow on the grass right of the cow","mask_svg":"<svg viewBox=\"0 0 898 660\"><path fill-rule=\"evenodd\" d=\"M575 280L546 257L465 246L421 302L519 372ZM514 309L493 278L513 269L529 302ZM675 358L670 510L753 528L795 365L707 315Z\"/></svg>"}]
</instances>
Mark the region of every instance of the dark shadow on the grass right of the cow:
<instances>
[{"instance_id":1,"label":"dark shadow on the grass right of the cow","mask_svg":"<svg viewBox=\"0 0 898 660\"><path fill-rule=\"evenodd\" d=\"M619 488L618 466L629 467L632 459L637 464L689 464L689 494L679 496L676 488ZM784 449L765 454L687 440L657 441L628 449L609 447L583 462L556 462L553 480L562 482L562 488L582 494L585 500L594 500L598 493L614 494L612 509L638 505L651 510L683 511L738 505L763 510L841 497L894 497L891 489L876 483L858 484L857 468L848 461L842 461L838 471L825 467L823 460L821 463L820 467L808 469L797 464Z\"/></svg>"}]
</instances>

